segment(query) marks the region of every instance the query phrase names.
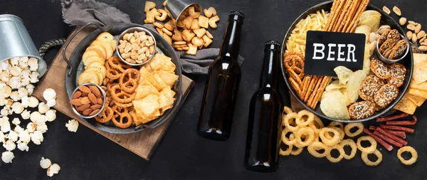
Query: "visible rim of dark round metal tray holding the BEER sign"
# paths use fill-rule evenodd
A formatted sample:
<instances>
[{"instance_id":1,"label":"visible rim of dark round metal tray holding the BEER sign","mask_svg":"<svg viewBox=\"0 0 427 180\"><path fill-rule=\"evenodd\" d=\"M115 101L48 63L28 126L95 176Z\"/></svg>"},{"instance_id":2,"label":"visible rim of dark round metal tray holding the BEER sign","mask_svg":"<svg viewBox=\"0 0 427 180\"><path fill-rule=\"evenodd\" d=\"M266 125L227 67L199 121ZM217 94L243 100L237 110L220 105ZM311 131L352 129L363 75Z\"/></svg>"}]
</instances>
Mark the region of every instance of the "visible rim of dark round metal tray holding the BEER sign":
<instances>
[{"instance_id":1,"label":"visible rim of dark round metal tray holding the BEER sign","mask_svg":"<svg viewBox=\"0 0 427 180\"><path fill-rule=\"evenodd\" d=\"M283 46L282 46L282 52L281 52L281 57L284 58L285 57L285 50L286 50L286 41L288 40L290 33L292 33L292 30L295 28L295 26L297 25L297 23L302 19L307 17L307 15L309 14L313 14L316 13L316 11L321 11L322 9L324 9L325 11L330 11L331 7L332 7L332 3L333 1L327 1L321 4L317 4L316 6L313 6L312 8L308 9L307 11L305 11L304 13L302 13L293 23L292 26L290 26L290 28L288 29L288 32L285 35L285 38L283 39ZM389 16L388 14L385 14L384 11L382 11L381 9L377 8L376 6L372 6L372 5L368 5L367 6L367 10L375 10L378 11L381 14L381 25L389 25L392 29L397 29L399 31L399 33L401 34L406 34L404 32L404 30L401 28L401 26L399 26L399 23L397 23L393 18L391 18L391 16ZM405 37L406 41L408 41L408 39ZM409 41L408 41L409 43ZM381 115L384 115L386 112L389 112L395 105L397 105L397 103L401 100L402 97L404 97L406 90L408 90L409 87L409 83L411 81L411 77L412 77L412 70L413 70L413 57L412 57L412 50L409 50L408 55L406 55L406 57L399 61L399 63L403 64L406 67L406 75L405 75L405 82L404 85L401 86L401 88L399 88L399 95L396 98L396 100L394 100L393 102L390 103L389 106L385 107L383 110L379 111L379 112L375 112L375 114L371 117L367 117L364 119L359 119L359 120L339 120L339 119L334 119L331 117L327 117L325 114L323 114L322 110L320 110L320 105L317 105L316 109L313 110L312 108L308 107L307 105L305 105L304 102L302 102L302 100L300 100L300 98L296 95L296 93L294 92L294 90L290 87L290 84L288 82L288 75L287 75L287 71L285 68L283 68L283 59L280 60L280 68L282 69L282 75L283 78L285 79L285 83L288 86L290 93L292 94L293 97L295 97L295 99L303 106L305 107L305 109L310 110L310 112L315 113L315 115L317 115L318 117L322 117L323 119L326 120L331 120L331 121L337 121L337 122L364 122L367 120L373 120L376 117L379 117ZM388 114L388 113L387 113Z\"/></svg>"}]
</instances>

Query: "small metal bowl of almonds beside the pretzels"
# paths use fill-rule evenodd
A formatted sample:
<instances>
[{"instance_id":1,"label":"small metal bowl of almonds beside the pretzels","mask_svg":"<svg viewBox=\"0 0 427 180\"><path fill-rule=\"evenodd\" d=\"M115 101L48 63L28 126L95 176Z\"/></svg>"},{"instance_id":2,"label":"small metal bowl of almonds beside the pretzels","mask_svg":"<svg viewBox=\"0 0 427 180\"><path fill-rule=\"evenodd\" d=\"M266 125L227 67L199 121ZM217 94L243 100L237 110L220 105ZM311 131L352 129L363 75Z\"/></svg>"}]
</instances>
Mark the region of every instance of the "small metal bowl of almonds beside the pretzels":
<instances>
[{"instance_id":1,"label":"small metal bowl of almonds beside the pretzels","mask_svg":"<svg viewBox=\"0 0 427 180\"><path fill-rule=\"evenodd\" d=\"M85 119L93 118L105 107L105 92L99 85L84 83L75 88L70 104L75 114Z\"/></svg>"}]
</instances>

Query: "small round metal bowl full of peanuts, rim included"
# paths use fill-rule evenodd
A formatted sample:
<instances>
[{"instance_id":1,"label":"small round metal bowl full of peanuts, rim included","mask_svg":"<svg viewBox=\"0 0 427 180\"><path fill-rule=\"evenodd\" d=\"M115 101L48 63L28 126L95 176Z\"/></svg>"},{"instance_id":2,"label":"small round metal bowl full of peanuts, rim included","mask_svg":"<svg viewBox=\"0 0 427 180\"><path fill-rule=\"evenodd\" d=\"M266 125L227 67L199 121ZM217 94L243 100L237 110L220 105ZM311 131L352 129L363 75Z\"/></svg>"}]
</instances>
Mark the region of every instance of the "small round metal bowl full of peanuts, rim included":
<instances>
[{"instance_id":1,"label":"small round metal bowl full of peanuts, rim included","mask_svg":"<svg viewBox=\"0 0 427 180\"><path fill-rule=\"evenodd\" d=\"M123 63L144 65L152 59L157 50L156 39L146 28L127 28L117 41L117 54Z\"/></svg>"}]
</instances>

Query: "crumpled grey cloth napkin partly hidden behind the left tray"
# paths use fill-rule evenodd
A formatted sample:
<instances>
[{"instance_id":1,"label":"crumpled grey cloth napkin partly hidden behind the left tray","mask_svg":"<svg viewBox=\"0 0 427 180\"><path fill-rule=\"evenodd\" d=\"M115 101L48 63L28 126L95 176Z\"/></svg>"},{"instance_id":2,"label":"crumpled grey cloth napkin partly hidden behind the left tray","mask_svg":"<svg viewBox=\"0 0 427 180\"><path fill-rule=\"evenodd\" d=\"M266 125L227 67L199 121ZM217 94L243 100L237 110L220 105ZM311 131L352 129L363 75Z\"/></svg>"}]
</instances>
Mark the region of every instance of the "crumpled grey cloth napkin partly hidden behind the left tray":
<instances>
[{"instance_id":1,"label":"crumpled grey cloth napkin partly hidden behind the left tray","mask_svg":"<svg viewBox=\"0 0 427 180\"><path fill-rule=\"evenodd\" d=\"M64 22L72 26L83 26L86 23L98 23L102 26L112 23L131 23L129 15L107 4L94 0L61 0L63 6ZM146 24L155 31L152 24ZM184 73L207 74L209 65L219 54L219 48L204 48L197 51L196 55L187 55L184 51L175 51ZM245 60L238 56L241 65Z\"/></svg>"}]
</instances>

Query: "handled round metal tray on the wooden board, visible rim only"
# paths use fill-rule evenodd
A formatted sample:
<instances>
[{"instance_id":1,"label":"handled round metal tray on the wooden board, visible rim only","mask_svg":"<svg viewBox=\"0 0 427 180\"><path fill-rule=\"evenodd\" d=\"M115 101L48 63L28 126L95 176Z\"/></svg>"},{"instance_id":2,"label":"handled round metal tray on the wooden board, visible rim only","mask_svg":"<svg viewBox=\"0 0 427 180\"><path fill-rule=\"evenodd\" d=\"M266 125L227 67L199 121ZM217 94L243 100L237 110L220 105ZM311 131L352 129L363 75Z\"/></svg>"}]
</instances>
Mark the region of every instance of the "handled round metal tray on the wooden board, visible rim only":
<instances>
[{"instance_id":1,"label":"handled round metal tray on the wooden board, visible rim only","mask_svg":"<svg viewBox=\"0 0 427 180\"><path fill-rule=\"evenodd\" d=\"M95 25L93 23L88 23L86 26L89 25ZM88 36L86 36L80 43L78 43L78 46L75 47L73 53L70 55L70 59L64 57L65 61L68 63L67 68L67 74L65 75L65 88L67 90L68 97L71 98L73 95L73 90L78 86L77 78L80 73L83 73L83 70L85 70L83 62L81 62L81 58L83 53L85 53L86 48L90 46L90 43L97 38L97 36L102 33L102 31L107 31L111 33L113 36L115 36L115 40L118 41L118 36L120 36L120 33L122 31L125 31L127 28L132 27L144 27L139 24L134 23L117 23L112 26L104 26L100 27L97 26L97 30L90 33ZM65 43L63 48L63 56L65 56L65 50L70 43L70 41L75 37L75 35L80 32L85 26L82 26L79 28L73 35L70 36L70 40L68 40L67 43ZM152 31L151 29L147 28L154 36L155 40L157 41L157 52L163 53L164 55L169 56L172 58L172 62L176 65L175 74L179 76L178 80L176 80L176 83L174 87L172 87L172 90L176 92L175 95L175 102L172 109L167 110L164 112L164 114L160 117L158 117L156 120L152 120L151 122L148 122L144 125L139 125L137 127L131 126L126 129L121 129L119 127L115 127L112 123L99 123L95 119L83 119L86 122L88 122L91 126L95 127L96 129L100 129L103 132L108 132L112 134L131 134L135 132L141 132L144 129L152 129L154 127L157 127L159 125L162 125L165 121L169 120L169 118L174 115L174 113L177 112L177 107L179 103L181 103L181 82L182 82L182 75L181 75L181 63L179 63L179 58L176 56L176 53L174 51L174 48L167 43L162 36L159 35L159 33ZM117 52L113 56L117 56ZM71 107L70 107L71 108Z\"/></svg>"}]
</instances>

